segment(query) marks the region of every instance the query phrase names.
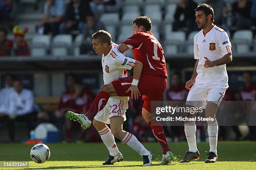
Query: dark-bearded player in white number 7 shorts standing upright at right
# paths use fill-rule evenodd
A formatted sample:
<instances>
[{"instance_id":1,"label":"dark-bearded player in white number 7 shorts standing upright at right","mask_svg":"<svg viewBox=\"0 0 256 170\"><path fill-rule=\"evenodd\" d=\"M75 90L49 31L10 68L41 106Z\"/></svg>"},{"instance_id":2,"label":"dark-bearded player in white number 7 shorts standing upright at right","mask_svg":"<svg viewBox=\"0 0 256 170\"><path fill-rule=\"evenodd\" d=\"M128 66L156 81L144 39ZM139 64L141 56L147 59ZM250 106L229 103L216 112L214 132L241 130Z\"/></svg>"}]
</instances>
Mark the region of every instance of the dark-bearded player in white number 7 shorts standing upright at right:
<instances>
[{"instance_id":1,"label":"dark-bearded player in white number 7 shorts standing upright at right","mask_svg":"<svg viewBox=\"0 0 256 170\"><path fill-rule=\"evenodd\" d=\"M216 112L228 88L226 64L232 61L231 44L227 33L214 25L214 12L210 5L202 4L195 9L195 17L200 32L194 37L195 69L185 87L189 90L186 107L205 107L210 151L205 163L217 161L218 123ZM200 102L198 102L200 101ZM188 113L187 117L195 117ZM184 122L184 131L189 151L181 163L199 159L196 145L195 121Z\"/></svg>"}]
</instances>

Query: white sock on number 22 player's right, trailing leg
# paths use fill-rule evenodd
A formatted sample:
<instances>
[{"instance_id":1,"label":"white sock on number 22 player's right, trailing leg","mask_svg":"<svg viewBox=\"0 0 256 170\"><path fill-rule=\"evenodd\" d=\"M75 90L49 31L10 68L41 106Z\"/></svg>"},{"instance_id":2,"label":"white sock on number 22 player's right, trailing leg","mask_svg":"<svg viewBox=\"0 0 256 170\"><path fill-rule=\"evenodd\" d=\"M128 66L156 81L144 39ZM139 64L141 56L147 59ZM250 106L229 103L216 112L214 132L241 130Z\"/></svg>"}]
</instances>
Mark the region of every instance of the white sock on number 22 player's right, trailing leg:
<instances>
[{"instance_id":1,"label":"white sock on number 22 player's right, trailing leg","mask_svg":"<svg viewBox=\"0 0 256 170\"><path fill-rule=\"evenodd\" d=\"M127 132L122 141L126 143L129 147L131 147L133 150L135 150L137 153L139 153L141 156L150 155L150 152L148 152L148 150L146 150L146 148L131 133Z\"/></svg>"}]
</instances>

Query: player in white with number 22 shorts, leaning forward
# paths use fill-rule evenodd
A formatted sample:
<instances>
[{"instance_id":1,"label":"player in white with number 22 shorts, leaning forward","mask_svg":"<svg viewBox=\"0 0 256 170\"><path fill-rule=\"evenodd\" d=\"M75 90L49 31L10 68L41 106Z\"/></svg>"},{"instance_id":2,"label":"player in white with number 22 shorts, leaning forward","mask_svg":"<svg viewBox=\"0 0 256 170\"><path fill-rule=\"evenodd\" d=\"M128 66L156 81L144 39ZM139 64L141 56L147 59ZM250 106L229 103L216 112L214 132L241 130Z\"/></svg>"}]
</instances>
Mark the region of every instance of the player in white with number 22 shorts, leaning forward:
<instances>
[{"instance_id":1,"label":"player in white with number 22 shorts, leaning forward","mask_svg":"<svg viewBox=\"0 0 256 170\"><path fill-rule=\"evenodd\" d=\"M142 63L125 57L118 50L118 45L112 42L111 35L107 31L100 30L92 35L92 48L97 55L102 55L101 62L104 84L108 84L122 77L127 77L127 70L131 70L133 67L133 71L139 72L139 74L142 70ZM154 155L146 150L134 135L123 130L123 122L126 120L125 112L128 109L128 99L129 97L110 97L105 108L100 110L94 117L93 125L100 133L103 143L110 152L108 160L103 165L111 165L123 160L123 155L118 150L114 136L141 155L143 166L152 165ZM95 107L100 107L100 105L95 105ZM67 112L71 120L78 121L82 124L83 122L81 121L83 119L78 119L73 114L72 112ZM110 124L111 130L106 124Z\"/></svg>"}]
</instances>

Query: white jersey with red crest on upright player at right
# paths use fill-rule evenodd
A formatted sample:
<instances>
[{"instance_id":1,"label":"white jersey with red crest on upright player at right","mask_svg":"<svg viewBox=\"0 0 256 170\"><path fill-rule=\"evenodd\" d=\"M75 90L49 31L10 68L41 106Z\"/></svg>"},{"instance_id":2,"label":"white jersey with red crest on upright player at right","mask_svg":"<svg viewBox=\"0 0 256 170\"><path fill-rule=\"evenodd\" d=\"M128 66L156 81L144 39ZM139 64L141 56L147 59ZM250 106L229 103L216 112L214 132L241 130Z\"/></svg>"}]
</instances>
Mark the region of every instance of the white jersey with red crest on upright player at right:
<instances>
[{"instance_id":1,"label":"white jersey with red crest on upright player at right","mask_svg":"<svg viewBox=\"0 0 256 170\"><path fill-rule=\"evenodd\" d=\"M205 68L205 58L214 61L231 53L231 43L227 33L216 25L205 35L203 31L194 37L194 57L199 59L197 65L197 84L228 85L226 65Z\"/></svg>"}]
</instances>

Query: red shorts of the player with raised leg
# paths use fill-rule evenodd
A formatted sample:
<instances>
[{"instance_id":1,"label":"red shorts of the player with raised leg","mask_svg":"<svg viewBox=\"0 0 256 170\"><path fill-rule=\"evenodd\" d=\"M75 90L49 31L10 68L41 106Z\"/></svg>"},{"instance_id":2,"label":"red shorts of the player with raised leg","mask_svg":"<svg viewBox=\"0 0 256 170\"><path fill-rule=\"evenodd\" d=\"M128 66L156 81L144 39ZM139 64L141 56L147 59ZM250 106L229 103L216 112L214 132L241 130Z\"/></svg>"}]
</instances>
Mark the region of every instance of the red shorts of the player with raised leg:
<instances>
[{"instance_id":1,"label":"red shorts of the player with raised leg","mask_svg":"<svg viewBox=\"0 0 256 170\"><path fill-rule=\"evenodd\" d=\"M123 77L112 82L115 92L118 96L131 96L131 92L127 92L131 83L133 82L133 76ZM138 90L144 100L143 108L148 112L151 112L151 101L161 101L162 95L166 88L167 80L164 77L155 75L142 74L138 83Z\"/></svg>"}]
</instances>

